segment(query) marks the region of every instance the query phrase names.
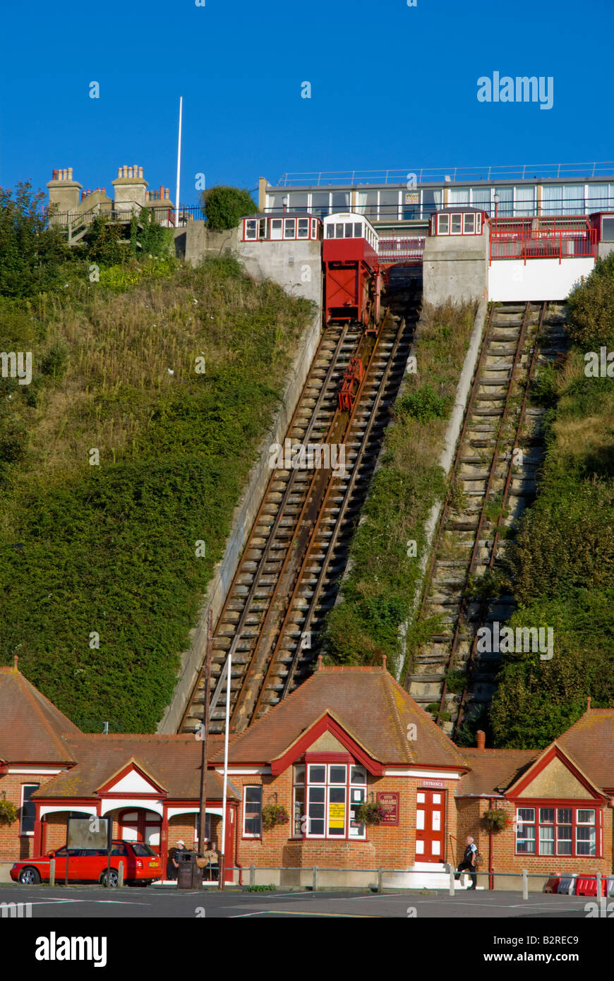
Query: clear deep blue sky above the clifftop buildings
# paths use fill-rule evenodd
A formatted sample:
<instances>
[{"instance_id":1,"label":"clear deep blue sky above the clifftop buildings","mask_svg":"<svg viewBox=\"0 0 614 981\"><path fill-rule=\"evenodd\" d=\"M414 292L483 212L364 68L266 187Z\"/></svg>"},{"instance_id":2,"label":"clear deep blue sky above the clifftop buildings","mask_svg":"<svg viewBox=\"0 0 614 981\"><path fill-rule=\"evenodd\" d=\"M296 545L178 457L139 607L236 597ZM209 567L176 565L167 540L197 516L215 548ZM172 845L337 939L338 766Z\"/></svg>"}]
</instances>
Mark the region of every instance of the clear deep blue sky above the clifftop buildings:
<instances>
[{"instance_id":1,"label":"clear deep blue sky above the clifftop buildings","mask_svg":"<svg viewBox=\"0 0 614 981\"><path fill-rule=\"evenodd\" d=\"M614 160L613 0L160 0L5 5L0 185L137 164L181 201L285 171ZM552 76L554 103L477 79ZM312 98L300 97L308 80ZM89 98L98 81L100 98Z\"/></svg>"}]
</instances>

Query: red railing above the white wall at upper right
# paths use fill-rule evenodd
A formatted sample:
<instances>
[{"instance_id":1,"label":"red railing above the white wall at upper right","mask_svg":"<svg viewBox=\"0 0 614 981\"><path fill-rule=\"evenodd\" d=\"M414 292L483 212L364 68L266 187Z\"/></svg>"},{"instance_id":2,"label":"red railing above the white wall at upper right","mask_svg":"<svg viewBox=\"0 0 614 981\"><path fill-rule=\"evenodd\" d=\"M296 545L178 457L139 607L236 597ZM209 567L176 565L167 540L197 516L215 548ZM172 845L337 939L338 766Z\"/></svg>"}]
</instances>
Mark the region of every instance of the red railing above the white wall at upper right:
<instances>
[{"instance_id":1,"label":"red railing above the white wall at upper right","mask_svg":"<svg viewBox=\"0 0 614 981\"><path fill-rule=\"evenodd\" d=\"M596 229L553 229L513 232L490 230L490 262L493 259L596 258Z\"/></svg>"}]
</instances>

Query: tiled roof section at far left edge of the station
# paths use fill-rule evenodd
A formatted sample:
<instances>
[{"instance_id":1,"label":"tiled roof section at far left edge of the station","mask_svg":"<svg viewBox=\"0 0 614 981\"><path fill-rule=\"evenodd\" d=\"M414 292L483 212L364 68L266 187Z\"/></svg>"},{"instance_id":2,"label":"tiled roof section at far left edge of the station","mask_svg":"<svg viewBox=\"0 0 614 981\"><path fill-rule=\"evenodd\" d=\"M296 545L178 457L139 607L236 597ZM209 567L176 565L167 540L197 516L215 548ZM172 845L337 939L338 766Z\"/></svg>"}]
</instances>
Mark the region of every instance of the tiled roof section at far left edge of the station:
<instances>
[{"instance_id":1,"label":"tiled roof section at far left edge of the station","mask_svg":"<svg viewBox=\"0 0 614 981\"><path fill-rule=\"evenodd\" d=\"M63 733L80 729L17 668L0 668L0 759L7 763L69 763Z\"/></svg>"}]
</instances>

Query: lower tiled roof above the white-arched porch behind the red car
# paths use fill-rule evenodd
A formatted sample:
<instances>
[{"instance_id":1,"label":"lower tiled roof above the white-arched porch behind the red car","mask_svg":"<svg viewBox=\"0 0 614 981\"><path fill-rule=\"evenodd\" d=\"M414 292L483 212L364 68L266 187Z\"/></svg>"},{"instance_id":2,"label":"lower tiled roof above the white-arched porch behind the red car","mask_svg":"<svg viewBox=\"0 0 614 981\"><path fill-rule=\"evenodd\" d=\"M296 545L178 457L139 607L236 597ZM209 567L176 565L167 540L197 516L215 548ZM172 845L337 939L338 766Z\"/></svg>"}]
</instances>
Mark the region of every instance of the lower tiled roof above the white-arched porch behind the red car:
<instances>
[{"instance_id":1,"label":"lower tiled roof above the white-arched porch behind the red car","mask_svg":"<svg viewBox=\"0 0 614 981\"><path fill-rule=\"evenodd\" d=\"M100 787L133 760L145 775L166 790L169 798L198 799L201 744L193 736L83 734L67 736L66 742L73 759L78 760L77 765L54 777L35 792L35 797L94 797ZM214 739L213 745L216 743L219 740ZM240 797L230 781L228 797L230 800ZM222 799L222 777L214 771L207 774L207 798Z\"/></svg>"}]
</instances>

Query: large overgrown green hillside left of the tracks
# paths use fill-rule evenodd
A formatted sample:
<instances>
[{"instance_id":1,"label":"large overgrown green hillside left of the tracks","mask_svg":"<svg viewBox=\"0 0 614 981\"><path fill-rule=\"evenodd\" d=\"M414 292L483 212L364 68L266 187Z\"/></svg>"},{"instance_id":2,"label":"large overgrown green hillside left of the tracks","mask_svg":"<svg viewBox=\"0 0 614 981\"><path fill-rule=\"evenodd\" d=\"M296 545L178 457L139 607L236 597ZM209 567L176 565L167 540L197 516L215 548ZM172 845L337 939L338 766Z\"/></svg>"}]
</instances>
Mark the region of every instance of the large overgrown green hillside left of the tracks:
<instances>
[{"instance_id":1,"label":"large overgrown green hillside left of the tracks","mask_svg":"<svg viewBox=\"0 0 614 981\"><path fill-rule=\"evenodd\" d=\"M86 731L152 731L311 306L153 229L69 253L25 187L0 208L1 347L32 352L29 385L0 378L0 660Z\"/></svg>"}]
</instances>

